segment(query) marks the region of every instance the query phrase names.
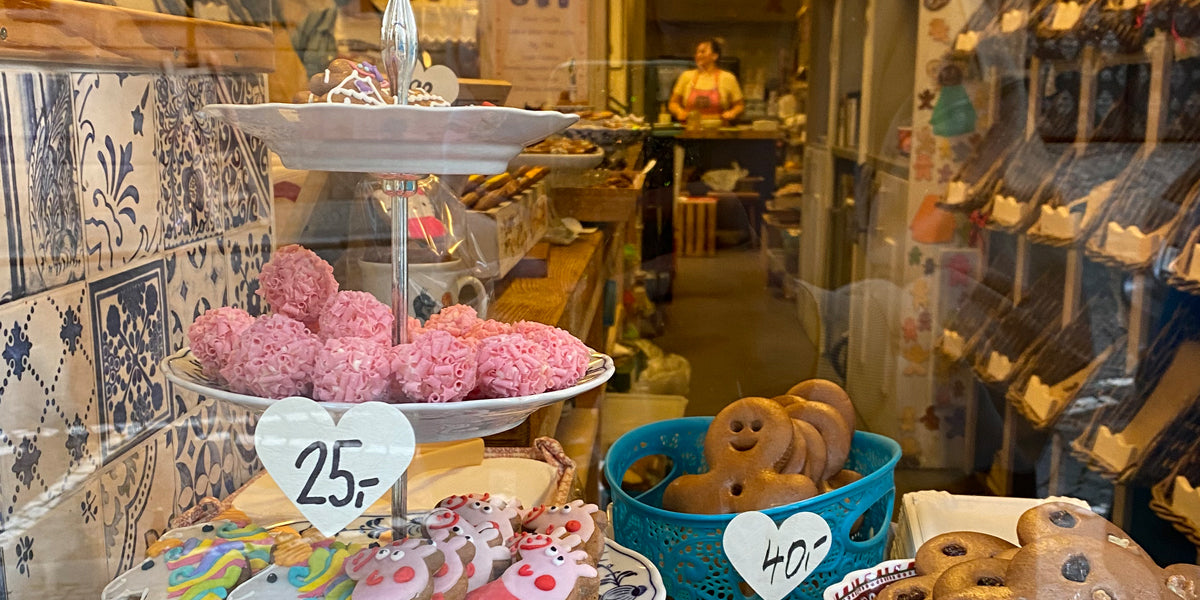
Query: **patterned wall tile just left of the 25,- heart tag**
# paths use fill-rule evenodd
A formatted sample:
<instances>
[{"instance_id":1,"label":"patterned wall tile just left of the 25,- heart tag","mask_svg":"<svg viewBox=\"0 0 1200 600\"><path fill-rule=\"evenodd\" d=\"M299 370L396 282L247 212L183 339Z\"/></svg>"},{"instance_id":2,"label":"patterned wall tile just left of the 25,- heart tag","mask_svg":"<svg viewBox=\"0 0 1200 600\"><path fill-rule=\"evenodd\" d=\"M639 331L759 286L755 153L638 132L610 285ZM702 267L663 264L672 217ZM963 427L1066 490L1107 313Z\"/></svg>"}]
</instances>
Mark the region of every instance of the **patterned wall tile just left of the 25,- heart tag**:
<instances>
[{"instance_id":1,"label":"patterned wall tile just left of the 25,- heart tag","mask_svg":"<svg viewBox=\"0 0 1200 600\"><path fill-rule=\"evenodd\" d=\"M175 514L196 505L205 496L224 498L238 488L239 456L234 451L230 424L212 400L203 401L175 422L168 433L175 448Z\"/></svg>"}]
</instances>

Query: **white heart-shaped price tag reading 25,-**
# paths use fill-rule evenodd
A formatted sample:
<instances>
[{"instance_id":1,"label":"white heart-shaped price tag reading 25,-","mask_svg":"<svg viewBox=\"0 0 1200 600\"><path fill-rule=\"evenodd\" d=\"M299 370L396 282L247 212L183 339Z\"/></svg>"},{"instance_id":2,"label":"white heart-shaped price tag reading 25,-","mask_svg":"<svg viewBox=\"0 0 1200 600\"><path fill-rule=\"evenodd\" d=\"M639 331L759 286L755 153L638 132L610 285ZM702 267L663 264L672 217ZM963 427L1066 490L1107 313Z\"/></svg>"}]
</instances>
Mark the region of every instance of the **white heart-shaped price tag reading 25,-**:
<instances>
[{"instance_id":1,"label":"white heart-shaped price tag reading 25,-","mask_svg":"<svg viewBox=\"0 0 1200 600\"><path fill-rule=\"evenodd\" d=\"M413 462L416 436L390 404L358 404L335 424L320 404L290 397L263 412L254 449L300 514L334 535L400 479Z\"/></svg>"}]
</instances>

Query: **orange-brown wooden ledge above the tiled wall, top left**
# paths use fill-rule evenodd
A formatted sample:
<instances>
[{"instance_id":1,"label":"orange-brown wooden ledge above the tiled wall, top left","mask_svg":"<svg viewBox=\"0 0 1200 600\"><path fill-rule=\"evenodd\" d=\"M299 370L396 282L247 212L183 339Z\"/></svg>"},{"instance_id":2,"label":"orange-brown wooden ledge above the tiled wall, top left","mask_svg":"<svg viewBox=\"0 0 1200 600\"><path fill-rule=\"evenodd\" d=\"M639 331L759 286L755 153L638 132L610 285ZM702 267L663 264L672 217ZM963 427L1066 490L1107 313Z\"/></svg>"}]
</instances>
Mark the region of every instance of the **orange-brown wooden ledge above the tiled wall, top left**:
<instances>
[{"instance_id":1,"label":"orange-brown wooden ledge above the tiled wall, top left","mask_svg":"<svg viewBox=\"0 0 1200 600\"><path fill-rule=\"evenodd\" d=\"M73 0L14 0L0 7L0 60L163 71L271 72L269 28L134 11Z\"/></svg>"}]
</instances>

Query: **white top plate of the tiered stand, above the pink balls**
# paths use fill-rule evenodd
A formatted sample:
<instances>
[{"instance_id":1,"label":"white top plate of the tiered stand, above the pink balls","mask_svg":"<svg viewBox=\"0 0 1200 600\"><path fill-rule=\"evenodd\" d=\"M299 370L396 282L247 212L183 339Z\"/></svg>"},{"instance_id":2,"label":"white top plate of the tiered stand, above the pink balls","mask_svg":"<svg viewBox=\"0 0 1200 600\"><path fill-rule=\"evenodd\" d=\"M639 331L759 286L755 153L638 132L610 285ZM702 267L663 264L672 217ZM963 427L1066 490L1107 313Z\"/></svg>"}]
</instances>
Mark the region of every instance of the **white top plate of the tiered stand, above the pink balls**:
<instances>
[{"instance_id":1,"label":"white top plate of the tiered stand, above the pink balls","mask_svg":"<svg viewBox=\"0 0 1200 600\"><path fill-rule=\"evenodd\" d=\"M521 150L578 115L509 107L209 104L262 138L289 169L468 175L503 173Z\"/></svg>"}]
</instances>

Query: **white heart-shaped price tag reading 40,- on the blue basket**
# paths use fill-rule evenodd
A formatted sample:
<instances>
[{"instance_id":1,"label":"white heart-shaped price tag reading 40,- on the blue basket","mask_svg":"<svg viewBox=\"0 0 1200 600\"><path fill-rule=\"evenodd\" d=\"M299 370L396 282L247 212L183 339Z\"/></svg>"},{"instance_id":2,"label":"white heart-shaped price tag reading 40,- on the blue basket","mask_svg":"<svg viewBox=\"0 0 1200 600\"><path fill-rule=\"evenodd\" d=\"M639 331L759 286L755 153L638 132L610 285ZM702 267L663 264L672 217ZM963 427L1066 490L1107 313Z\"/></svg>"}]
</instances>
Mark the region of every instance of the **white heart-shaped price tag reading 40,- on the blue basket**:
<instances>
[{"instance_id":1,"label":"white heart-shaped price tag reading 40,- on the blue basket","mask_svg":"<svg viewBox=\"0 0 1200 600\"><path fill-rule=\"evenodd\" d=\"M742 512L721 539L725 556L763 600L781 600L809 577L833 545L829 523L798 512L775 527L762 512Z\"/></svg>"}]
</instances>

